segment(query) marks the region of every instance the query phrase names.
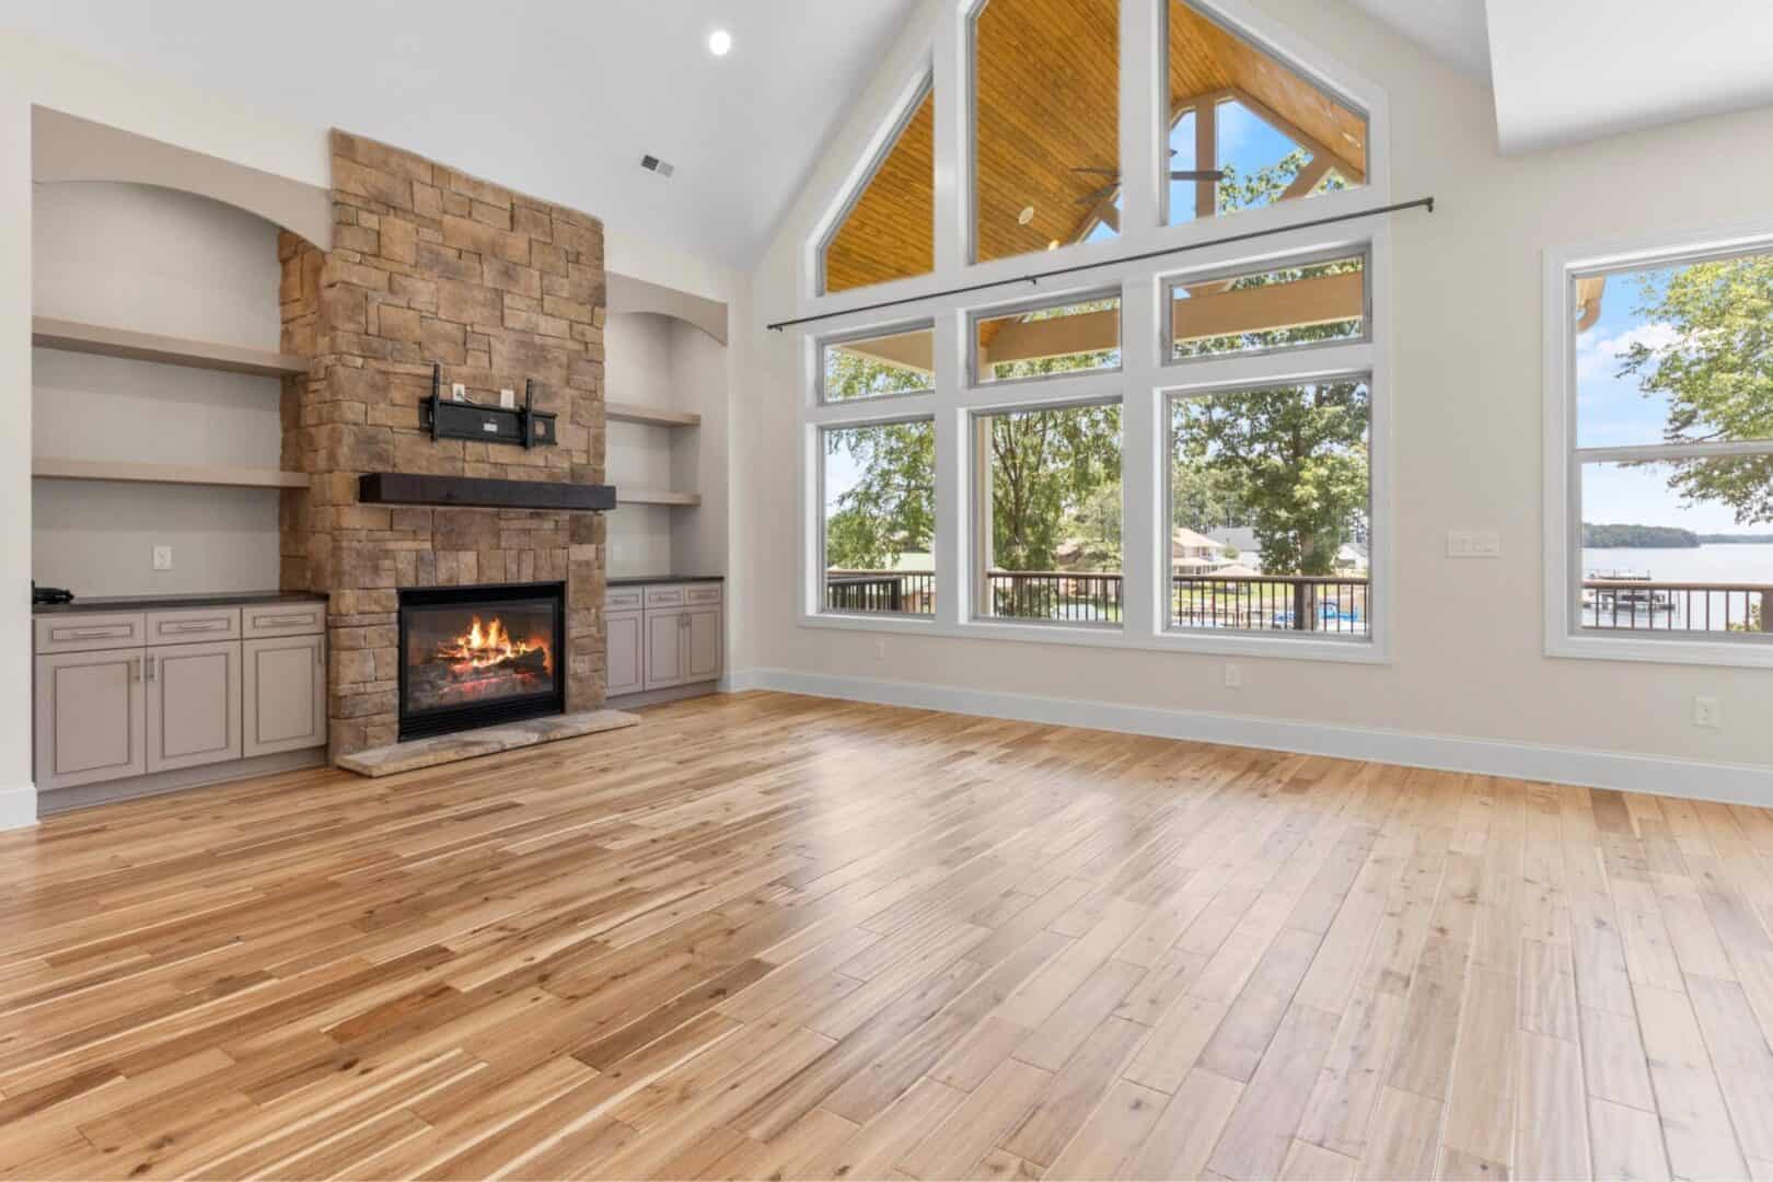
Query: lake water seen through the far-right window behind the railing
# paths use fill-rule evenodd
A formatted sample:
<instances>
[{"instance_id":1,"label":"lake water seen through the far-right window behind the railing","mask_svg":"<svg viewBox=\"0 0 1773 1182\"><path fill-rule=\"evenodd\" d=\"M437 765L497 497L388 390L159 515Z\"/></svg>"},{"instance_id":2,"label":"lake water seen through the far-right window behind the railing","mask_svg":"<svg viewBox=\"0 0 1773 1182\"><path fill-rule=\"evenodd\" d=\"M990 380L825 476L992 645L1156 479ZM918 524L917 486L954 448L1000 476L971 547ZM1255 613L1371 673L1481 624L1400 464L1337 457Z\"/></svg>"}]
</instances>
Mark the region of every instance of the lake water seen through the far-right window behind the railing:
<instances>
[{"instance_id":1,"label":"lake water seen through the far-right window behind the railing","mask_svg":"<svg viewBox=\"0 0 1773 1182\"><path fill-rule=\"evenodd\" d=\"M1647 574L1656 583L1743 583L1761 588L1773 587L1773 542L1739 546L1699 546L1697 549L1594 549L1583 548L1582 572L1592 574ZM1663 629L1723 629L1725 622L1739 626L1748 606L1761 604L1755 592L1675 592L1674 610L1649 611L1619 608L1621 627ZM1596 611L1587 606L1583 622L1608 627L1613 622L1612 604Z\"/></svg>"}]
</instances>

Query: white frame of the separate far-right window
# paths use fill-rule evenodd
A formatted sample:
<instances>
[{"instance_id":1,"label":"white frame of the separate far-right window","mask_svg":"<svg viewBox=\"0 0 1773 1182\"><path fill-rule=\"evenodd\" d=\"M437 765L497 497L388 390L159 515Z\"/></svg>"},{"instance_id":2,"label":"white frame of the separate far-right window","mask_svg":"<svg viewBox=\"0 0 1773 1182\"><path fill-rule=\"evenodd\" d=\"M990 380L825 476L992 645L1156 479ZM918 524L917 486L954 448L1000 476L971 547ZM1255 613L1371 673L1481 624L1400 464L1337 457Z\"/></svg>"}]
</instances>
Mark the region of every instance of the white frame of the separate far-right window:
<instances>
[{"instance_id":1,"label":"white frame of the separate far-right window","mask_svg":"<svg viewBox=\"0 0 1773 1182\"><path fill-rule=\"evenodd\" d=\"M1580 275L1629 273L1704 259L1773 253L1773 220L1670 230L1544 252L1544 649L1551 657L1773 668L1773 642L1697 640L1686 633L1583 629L1582 468L1619 459L1762 455L1766 443L1582 448L1576 432L1576 307Z\"/></svg>"}]
</instances>

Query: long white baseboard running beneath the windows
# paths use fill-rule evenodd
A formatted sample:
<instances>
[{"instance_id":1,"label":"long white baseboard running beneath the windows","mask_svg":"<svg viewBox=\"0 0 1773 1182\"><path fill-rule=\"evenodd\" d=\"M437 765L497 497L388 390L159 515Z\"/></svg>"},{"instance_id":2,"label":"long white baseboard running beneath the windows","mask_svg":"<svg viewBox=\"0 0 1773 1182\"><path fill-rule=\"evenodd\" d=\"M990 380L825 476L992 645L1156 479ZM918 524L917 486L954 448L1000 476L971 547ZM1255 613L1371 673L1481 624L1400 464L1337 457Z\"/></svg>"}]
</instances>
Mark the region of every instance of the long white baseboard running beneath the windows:
<instances>
[{"instance_id":1,"label":"long white baseboard running beneath the windows","mask_svg":"<svg viewBox=\"0 0 1773 1182\"><path fill-rule=\"evenodd\" d=\"M1027 723L1089 727L1161 739L1223 743L1229 746L1332 755L1337 758L1464 771L1512 780L1574 783L1621 792L1656 792L1699 801L1773 805L1773 767L1700 764L1656 755L1621 755L1537 743L1422 735L1402 730L1326 727L1277 718L1213 714L1207 711L1160 711L1106 702L1046 698L1025 693L952 689L904 680L833 677L794 670L738 670L722 680L727 691L780 689L819 698L906 705L947 714L1012 718Z\"/></svg>"}]
</instances>

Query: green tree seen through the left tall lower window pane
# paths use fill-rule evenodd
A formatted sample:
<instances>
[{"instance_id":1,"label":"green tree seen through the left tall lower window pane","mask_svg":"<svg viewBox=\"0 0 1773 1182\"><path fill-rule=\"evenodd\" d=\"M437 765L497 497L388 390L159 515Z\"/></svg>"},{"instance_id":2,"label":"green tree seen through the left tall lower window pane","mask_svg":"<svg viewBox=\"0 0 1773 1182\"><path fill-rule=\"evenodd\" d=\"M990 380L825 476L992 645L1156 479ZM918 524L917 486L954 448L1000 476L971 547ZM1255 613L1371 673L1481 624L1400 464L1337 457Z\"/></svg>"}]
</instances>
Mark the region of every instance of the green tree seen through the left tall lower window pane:
<instances>
[{"instance_id":1,"label":"green tree seen through the left tall lower window pane","mask_svg":"<svg viewBox=\"0 0 1773 1182\"><path fill-rule=\"evenodd\" d=\"M844 427L824 434L830 455L844 452L856 482L837 494L824 521L824 560L832 567L892 567L904 553L927 551L936 533L936 432L931 424Z\"/></svg>"}]
</instances>

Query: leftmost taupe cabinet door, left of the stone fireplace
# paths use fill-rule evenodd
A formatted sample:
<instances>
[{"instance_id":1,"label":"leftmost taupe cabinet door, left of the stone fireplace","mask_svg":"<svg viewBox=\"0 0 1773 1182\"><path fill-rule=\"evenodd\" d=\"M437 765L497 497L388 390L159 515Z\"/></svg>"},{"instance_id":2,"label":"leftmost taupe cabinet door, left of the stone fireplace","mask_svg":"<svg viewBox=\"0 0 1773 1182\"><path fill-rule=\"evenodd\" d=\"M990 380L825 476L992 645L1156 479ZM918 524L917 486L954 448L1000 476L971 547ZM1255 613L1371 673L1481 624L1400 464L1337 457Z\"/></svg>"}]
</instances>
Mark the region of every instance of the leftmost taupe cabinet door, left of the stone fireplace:
<instances>
[{"instance_id":1,"label":"leftmost taupe cabinet door, left of the stone fireplace","mask_svg":"<svg viewBox=\"0 0 1773 1182\"><path fill-rule=\"evenodd\" d=\"M37 790L147 771L142 650L37 657Z\"/></svg>"}]
</instances>

